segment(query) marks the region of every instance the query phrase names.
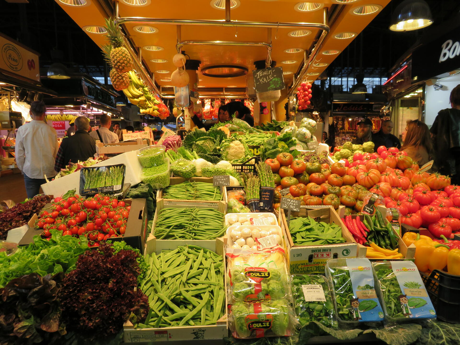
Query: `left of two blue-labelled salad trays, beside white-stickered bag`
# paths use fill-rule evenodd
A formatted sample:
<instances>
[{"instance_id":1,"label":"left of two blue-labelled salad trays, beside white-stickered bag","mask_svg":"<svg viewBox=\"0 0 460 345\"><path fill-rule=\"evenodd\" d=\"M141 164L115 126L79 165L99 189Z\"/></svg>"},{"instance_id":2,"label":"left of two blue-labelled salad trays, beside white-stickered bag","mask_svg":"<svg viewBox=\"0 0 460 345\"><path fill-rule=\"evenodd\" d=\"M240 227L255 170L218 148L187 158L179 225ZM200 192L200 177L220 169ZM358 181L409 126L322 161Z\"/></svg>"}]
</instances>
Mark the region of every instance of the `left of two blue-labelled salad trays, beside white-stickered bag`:
<instances>
[{"instance_id":1,"label":"left of two blue-labelled salad trays, beside white-stickered bag","mask_svg":"<svg viewBox=\"0 0 460 345\"><path fill-rule=\"evenodd\" d=\"M375 292L371 262L366 258L332 259L326 275L333 287L334 305L340 322L383 321Z\"/></svg>"}]
</instances>

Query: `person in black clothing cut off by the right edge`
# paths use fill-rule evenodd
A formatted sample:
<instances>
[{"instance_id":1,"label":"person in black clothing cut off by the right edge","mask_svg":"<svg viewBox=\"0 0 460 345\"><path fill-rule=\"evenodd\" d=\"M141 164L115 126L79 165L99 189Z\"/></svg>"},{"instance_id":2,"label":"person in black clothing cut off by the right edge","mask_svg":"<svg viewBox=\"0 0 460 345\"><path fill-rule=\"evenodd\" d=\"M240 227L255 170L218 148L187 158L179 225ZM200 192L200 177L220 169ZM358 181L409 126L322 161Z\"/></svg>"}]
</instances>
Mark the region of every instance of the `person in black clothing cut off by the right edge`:
<instances>
[{"instance_id":1,"label":"person in black clothing cut off by the right edge","mask_svg":"<svg viewBox=\"0 0 460 345\"><path fill-rule=\"evenodd\" d=\"M430 128L439 172L460 184L460 84L450 92L452 108L440 110Z\"/></svg>"}]
</instances>

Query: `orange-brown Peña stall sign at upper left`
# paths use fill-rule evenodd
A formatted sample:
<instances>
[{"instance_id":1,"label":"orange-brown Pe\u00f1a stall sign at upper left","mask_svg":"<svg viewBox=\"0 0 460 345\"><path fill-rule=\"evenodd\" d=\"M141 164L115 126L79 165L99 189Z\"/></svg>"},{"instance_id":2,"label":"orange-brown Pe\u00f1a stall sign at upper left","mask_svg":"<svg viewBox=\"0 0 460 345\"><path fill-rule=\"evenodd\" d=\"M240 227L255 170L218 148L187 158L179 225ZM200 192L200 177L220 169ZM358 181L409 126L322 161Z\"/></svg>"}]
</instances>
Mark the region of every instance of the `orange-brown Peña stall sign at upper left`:
<instances>
[{"instance_id":1,"label":"orange-brown Pe\u00f1a stall sign at upper left","mask_svg":"<svg viewBox=\"0 0 460 345\"><path fill-rule=\"evenodd\" d=\"M21 43L0 34L0 70L8 75L40 82L39 55Z\"/></svg>"}]
</instances>

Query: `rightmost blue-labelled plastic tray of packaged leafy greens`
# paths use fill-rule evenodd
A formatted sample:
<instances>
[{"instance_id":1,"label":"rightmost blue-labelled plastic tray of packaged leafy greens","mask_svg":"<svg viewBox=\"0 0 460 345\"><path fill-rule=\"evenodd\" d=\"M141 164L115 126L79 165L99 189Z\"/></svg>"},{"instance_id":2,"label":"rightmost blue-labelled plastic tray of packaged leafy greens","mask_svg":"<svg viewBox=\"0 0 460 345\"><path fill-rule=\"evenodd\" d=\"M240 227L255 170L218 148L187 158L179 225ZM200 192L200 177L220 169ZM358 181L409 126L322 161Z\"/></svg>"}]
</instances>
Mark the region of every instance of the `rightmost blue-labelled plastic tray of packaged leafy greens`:
<instances>
[{"instance_id":1,"label":"rightmost blue-labelled plastic tray of packaged leafy greens","mask_svg":"<svg viewBox=\"0 0 460 345\"><path fill-rule=\"evenodd\" d=\"M436 318L419 270L412 261L375 262L372 267L386 321L401 323Z\"/></svg>"}]
</instances>

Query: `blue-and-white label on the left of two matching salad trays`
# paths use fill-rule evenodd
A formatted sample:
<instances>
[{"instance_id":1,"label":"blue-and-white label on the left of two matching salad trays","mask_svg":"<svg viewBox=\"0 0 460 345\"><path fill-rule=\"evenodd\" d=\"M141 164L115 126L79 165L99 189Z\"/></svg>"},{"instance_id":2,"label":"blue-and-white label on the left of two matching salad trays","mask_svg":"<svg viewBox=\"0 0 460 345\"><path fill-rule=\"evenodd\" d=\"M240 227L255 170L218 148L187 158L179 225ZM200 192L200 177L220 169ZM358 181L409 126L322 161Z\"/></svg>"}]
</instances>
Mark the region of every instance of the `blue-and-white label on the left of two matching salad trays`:
<instances>
[{"instance_id":1,"label":"blue-and-white label on the left of two matching salad trays","mask_svg":"<svg viewBox=\"0 0 460 345\"><path fill-rule=\"evenodd\" d=\"M350 300L353 321L382 321L383 310L375 292L371 262L365 258L357 258L346 259L346 264L354 295Z\"/></svg>"}]
</instances>

